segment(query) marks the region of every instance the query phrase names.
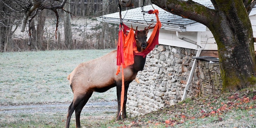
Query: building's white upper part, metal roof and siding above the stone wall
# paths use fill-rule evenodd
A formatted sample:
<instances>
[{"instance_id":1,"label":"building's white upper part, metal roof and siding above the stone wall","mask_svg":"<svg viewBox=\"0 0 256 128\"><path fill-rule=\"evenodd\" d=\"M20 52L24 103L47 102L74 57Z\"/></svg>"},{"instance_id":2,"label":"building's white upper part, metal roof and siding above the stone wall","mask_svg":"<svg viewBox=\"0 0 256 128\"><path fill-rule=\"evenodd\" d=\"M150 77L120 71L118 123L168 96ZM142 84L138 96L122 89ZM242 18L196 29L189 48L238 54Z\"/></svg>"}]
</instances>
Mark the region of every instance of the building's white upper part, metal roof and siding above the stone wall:
<instances>
[{"instance_id":1,"label":"building's white upper part, metal roof and siding above the stone wall","mask_svg":"<svg viewBox=\"0 0 256 128\"><path fill-rule=\"evenodd\" d=\"M210 0L194 1L208 8L214 8ZM162 23L159 34L159 44L194 50L202 49L202 52L199 53L200 56L218 57L217 44L212 33L206 26L194 20L171 14L154 4L144 6L144 10L153 10L152 6L159 10L159 18ZM132 24L133 26L145 27L150 23L156 22L154 14L146 13L143 15L141 11L141 8L122 11L124 24L128 26ZM256 36L256 8L252 9L249 18L252 23L253 34ZM100 16L97 19L108 23L120 23L119 12ZM256 44L254 44L254 46L256 46Z\"/></svg>"}]
</instances>

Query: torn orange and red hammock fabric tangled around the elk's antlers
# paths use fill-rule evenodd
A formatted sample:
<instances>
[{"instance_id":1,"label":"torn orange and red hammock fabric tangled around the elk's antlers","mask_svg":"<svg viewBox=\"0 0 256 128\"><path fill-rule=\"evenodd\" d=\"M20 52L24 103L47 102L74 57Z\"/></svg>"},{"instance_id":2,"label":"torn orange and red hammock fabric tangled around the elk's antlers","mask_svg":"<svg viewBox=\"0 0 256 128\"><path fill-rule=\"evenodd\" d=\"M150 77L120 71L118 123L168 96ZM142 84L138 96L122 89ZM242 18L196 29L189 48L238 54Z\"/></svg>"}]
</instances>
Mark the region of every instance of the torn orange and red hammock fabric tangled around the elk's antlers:
<instances>
[{"instance_id":1,"label":"torn orange and red hammock fabric tangled around the elk's antlers","mask_svg":"<svg viewBox=\"0 0 256 128\"><path fill-rule=\"evenodd\" d=\"M134 64L134 55L143 56L144 58L146 55L153 50L153 48L158 45L158 37L159 37L159 29L161 28L161 22L158 18L158 10L149 10L148 14L155 14L156 15L156 25L154 27L153 32L150 35L150 38L147 42L147 47L142 52L138 52L136 47L136 40L134 37L133 28L130 29L128 35L126 32L129 30L129 27L125 24L121 23L119 26L119 33L118 33L118 45L117 45L117 61L116 65L118 65L118 69L116 75L120 72L120 66L122 68L122 92L121 92L121 107L120 113L122 112L123 103L124 103L124 72L123 69L126 66Z\"/></svg>"}]
</instances>

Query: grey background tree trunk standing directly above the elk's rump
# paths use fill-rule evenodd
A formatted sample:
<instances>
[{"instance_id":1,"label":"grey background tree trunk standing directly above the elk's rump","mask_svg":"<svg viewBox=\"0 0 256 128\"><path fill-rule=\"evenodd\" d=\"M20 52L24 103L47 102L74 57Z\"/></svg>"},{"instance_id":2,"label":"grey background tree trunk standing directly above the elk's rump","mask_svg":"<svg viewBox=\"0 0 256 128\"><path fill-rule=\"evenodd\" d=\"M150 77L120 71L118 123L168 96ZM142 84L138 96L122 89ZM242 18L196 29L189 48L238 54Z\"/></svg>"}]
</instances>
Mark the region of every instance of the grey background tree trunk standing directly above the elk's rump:
<instances>
[{"instance_id":1,"label":"grey background tree trunk standing directly above the elk's rump","mask_svg":"<svg viewBox=\"0 0 256 128\"><path fill-rule=\"evenodd\" d=\"M67 1L70 3L70 0ZM64 6L66 11L70 11L70 4L65 4ZM71 28L71 16L69 13L64 12L64 44L68 49L72 49L73 47L73 39L72 39L72 28Z\"/></svg>"}]
</instances>

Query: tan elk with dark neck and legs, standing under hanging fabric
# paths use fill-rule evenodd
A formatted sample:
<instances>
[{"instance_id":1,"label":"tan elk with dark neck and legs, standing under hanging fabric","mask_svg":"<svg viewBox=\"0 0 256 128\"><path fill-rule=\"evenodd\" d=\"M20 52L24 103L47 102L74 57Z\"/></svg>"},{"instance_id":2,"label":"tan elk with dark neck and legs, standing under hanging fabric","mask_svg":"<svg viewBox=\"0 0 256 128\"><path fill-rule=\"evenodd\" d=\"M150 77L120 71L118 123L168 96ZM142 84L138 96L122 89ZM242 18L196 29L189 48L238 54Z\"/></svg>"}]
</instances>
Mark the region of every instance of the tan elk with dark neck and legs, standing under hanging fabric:
<instances>
[{"instance_id":1,"label":"tan elk with dark neck and legs, standing under hanging fabric","mask_svg":"<svg viewBox=\"0 0 256 128\"><path fill-rule=\"evenodd\" d=\"M148 27L144 30L137 31L136 28L136 46L138 52L142 52L147 47ZM152 27L151 27L152 28ZM118 100L118 115L116 120L120 120L120 104L122 90L122 74L116 75L116 54L114 50L105 56L84 62L78 65L69 75L68 80L70 87L74 93L74 99L68 107L68 115L65 128L69 128L70 118L75 111L76 128L80 128L80 113L93 92L106 92L110 88L116 86L116 94ZM134 64L124 68L124 103L122 108L122 119L126 118L126 101L127 90L130 82L132 82L138 71L143 70L146 57L134 55Z\"/></svg>"}]
</instances>

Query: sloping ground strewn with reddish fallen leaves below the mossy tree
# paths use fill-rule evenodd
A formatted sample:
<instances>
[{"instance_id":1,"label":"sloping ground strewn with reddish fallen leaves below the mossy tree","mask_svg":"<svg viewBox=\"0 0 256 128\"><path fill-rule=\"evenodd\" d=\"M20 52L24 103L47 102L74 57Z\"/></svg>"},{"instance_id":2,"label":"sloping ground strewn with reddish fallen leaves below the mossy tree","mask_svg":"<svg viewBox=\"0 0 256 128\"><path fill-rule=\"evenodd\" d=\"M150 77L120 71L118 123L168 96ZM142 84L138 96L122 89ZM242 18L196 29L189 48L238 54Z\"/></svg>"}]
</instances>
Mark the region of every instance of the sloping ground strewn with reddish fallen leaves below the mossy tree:
<instances>
[{"instance_id":1,"label":"sloping ground strewn with reddish fallen leaves below the mossy tree","mask_svg":"<svg viewBox=\"0 0 256 128\"><path fill-rule=\"evenodd\" d=\"M177 105L128 120L117 128L256 128L256 87L213 96L187 98Z\"/></svg>"}]
</instances>

